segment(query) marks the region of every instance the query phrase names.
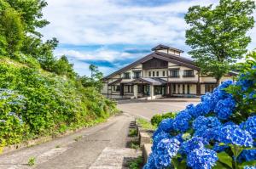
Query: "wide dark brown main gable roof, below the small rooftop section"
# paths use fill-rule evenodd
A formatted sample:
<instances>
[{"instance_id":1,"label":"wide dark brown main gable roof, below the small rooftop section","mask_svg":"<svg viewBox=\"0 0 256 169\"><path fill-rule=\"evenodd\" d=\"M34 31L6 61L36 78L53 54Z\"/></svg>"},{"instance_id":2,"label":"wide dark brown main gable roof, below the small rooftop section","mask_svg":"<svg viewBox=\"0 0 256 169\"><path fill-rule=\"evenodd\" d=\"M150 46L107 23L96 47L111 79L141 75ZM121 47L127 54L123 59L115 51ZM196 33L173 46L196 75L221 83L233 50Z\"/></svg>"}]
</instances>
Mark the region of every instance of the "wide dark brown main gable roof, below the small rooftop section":
<instances>
[{"instance_id":1,"label":"wide dark brown main gable roof, below the small rooftop section","mask_svg":"<svg viewBox=\"0 0 256 169\"><path fill-rule=\"evenodd\" d=\"M176 56L174 54L165 54L165 53L161 53L161 52L154 52L152 54L148 54L147 56L143 57L142 59L138 59L137 61L131 63L130 65L125 66L124 68L122 68L120 70L113 72L112 74L110 74L108 76L105 76L103 78L103 80L106 80L108 78L111 78L112 76L116 76L120 73L123 73L126 70L130 70L132 67L134 67L138 64L142 64L142 63L148 61L149 59L153 59L153 58L163 59L163 60L172 62L177 65L183 65L185 67L189 67L190 69L200 70L200 68L197 67L195 65L195 63L193 62L193 60L191 60L191 59L186 59L184 57Z\"/></svg>"}]
</instances>

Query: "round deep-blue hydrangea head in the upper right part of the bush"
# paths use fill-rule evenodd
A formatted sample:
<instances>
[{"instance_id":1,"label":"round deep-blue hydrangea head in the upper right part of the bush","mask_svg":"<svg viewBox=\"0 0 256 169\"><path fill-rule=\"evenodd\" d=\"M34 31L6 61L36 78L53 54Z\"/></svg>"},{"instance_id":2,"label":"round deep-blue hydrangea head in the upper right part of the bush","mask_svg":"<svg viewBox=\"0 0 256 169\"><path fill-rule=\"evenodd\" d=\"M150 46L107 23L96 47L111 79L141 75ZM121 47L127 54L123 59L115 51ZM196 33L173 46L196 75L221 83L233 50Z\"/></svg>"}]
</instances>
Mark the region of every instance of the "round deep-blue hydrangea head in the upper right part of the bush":
<instances>
[{"instance_id":1,"label":"round deep-blue hydrangea head in the upper right part of the bush","mask_svg":"<svg viewBox=\"0 0 256 169\"><path fill-rule=\"evenodd\" d=\"M234 99L221 99L218 101L214 112L218 119L227 120L236 108L236 101Z\"/></svg>"}]
</instances>

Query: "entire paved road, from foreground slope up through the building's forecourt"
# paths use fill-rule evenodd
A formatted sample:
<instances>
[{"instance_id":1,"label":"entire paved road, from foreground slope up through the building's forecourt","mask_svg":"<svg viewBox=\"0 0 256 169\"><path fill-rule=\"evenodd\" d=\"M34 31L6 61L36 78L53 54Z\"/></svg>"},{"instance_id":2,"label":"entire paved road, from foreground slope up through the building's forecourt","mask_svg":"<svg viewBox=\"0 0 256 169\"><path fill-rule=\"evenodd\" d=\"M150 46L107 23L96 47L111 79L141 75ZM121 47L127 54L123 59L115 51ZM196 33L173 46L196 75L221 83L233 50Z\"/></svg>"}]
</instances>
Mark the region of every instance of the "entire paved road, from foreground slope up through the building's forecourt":
<instances>
[{"instance_id":1,"label":"entire paved road, from foreground slope up through the building's forecourt","mask_svg":"<svg viewBox=\"0 0 256 169\"><path fill-rule=\"evenodd\" d=\"M184 102L185 101L185 102ZM102 152L110 148L125 148L126 138L133 116L147 120L157 114L183 110L187 104L197 104L198 99L159 99L154 101L125 100L118 104L124 114L116 115L107 122L84 129L45 144L0 155L1 169L73 169L89 168ZM118 155L117 155L118 156ZM36 165L27 166L35 157ZM104 158L103 158L104 159Z\"/></svg>"}]
</instances>

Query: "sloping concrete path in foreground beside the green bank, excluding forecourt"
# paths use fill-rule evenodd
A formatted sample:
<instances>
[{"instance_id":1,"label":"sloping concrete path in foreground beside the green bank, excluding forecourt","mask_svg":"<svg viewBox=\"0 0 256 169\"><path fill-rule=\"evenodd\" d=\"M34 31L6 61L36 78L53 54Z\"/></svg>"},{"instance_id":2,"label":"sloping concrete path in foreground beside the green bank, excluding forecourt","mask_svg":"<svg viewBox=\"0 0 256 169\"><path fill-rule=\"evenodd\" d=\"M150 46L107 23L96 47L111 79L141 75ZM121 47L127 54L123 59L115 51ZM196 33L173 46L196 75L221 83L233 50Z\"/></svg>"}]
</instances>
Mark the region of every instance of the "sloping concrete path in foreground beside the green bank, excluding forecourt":
<instances>
[{"instance_id":1,"label":"sloping concrete path in foreground beside the green bank, excluding forecourt","mask_svg":"<svg viewBox=\"0 0 256 169\"><path fill-rule=\"evenodd\" d=\"M85 129L49 143L20 149L0 156L1 169L73 169L89 168L106 148L125 148L130 122L129 115L111 117L108 122ZM77 141L76 141L77 140ZM35 166L27 161L36 158Z\"/></svg>"}]
</instances>

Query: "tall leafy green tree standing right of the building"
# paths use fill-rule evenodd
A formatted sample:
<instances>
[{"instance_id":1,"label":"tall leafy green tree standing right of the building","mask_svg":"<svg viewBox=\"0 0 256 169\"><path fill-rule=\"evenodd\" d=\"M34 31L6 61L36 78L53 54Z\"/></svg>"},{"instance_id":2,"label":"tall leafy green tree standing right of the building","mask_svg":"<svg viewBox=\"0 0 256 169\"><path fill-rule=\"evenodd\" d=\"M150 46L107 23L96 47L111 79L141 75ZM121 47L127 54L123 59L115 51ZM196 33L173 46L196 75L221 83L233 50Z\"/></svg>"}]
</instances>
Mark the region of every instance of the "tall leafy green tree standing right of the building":
<instances>
[{"instance_id":1,"label":"tall leafy green tree standing right of the building","mask_svg":"<svg viewBox=\"0 0 256 169\"><path fill-rule=\"evenodd\" d=\"M247 53L253 28L253 0L220 0L213 8L194 6L185 14L190 28L186 43L192 48L189 54L201 67L201 74L216 78L217 82L230 66Z\"/></svg>"}]
</instances>

